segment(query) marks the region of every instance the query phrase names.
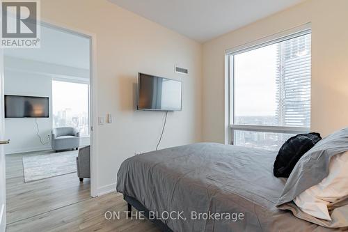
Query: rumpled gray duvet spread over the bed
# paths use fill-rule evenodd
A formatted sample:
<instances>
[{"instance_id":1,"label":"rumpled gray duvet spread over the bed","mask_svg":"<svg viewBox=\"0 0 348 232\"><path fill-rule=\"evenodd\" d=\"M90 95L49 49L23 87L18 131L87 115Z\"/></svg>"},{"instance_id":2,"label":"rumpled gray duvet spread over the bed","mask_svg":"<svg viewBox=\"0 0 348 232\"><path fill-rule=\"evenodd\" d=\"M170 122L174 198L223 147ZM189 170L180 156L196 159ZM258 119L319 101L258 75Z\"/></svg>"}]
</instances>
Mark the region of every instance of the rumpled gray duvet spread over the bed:
<instances>
[{"instance_id":1,"label":"rumpled gray duvet spread over the bed","mask_svg":"<svg viewBox=\"0 0 348 232\"><path fill-rule=\"evenodd\" d=\"M159 217L182 212L162 219L173 231L334 231L276 208L285 180L273 176L275 157L210 143L157 150L125 160L117 190Z\"/></svg>"}]
</instances>

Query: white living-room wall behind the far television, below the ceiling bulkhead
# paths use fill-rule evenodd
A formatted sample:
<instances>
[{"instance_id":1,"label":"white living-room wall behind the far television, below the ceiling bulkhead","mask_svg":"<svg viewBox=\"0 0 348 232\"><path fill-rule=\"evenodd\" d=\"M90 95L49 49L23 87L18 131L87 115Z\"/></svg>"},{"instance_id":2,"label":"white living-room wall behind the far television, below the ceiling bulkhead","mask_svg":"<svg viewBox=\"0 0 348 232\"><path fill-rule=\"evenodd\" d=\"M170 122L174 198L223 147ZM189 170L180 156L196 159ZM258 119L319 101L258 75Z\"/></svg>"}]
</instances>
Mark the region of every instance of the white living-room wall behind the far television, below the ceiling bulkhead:
<instances>
[{"instance_id":1,"label":"white living-room wall behind the far television, below the ceiling bulkhead","mask_svg":"<svg viewBox=\"0 0 348 232\"><path fill-rule=\"evenodd\" d=\"M33 75L28 72L5 70L5 94L49 97L49 118L38 118L40 135L44 142L52 130L52 78ZM35 118L5 118L6 138L10 144L5 148L6 154L33 150L45 150L50 146L40 144L36 136Z\"/></svg>"}]
</instances>

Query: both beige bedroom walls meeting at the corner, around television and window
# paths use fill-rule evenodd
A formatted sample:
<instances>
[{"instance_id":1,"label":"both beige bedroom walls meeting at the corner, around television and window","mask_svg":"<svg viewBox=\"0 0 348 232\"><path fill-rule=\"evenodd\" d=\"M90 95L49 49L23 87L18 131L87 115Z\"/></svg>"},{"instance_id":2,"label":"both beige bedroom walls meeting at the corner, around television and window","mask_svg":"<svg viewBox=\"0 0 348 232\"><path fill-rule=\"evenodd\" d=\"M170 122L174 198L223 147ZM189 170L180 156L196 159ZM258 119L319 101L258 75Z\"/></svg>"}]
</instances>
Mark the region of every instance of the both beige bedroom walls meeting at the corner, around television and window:
<instances>
[{"instance_id":1,"label":"both beige bedroom walls meeting at the corner, around television and window","mask_svg":"<svg viewBox=\"0 0 348 232\"><path fill-rule=\"evenodd\" d=\"M123 160L153 150L159 139L164 114L135 110L137 72L183 81L183 110L168 114L161 148L223 142L225 50L307 22L313 32L312 130L325 135L348 125L346 0L306 1L203 46L106 0L45 0L41 8L43 20L97 36L98 111L114 116L112 124L99 126L100 191L114 187ZM175 74L175 64L190 74Z\"/></svg>"}]
</instances>

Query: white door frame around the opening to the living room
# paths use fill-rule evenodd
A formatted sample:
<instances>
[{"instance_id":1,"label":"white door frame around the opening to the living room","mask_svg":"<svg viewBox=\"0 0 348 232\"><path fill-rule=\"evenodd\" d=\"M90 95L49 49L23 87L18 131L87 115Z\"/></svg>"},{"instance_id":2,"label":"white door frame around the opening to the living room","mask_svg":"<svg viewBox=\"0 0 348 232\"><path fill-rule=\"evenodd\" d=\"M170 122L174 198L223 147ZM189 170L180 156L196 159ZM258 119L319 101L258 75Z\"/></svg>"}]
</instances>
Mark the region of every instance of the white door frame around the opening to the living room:
<instances>
[{"instance_id":1,"label":"white door frame around the opening to the living room","mask_svg":"<svg viewBox=\"0 0 348 232\"><path fill-rule=\"evenodd\" d=\"M97 127L97 36L95 33L42 19L40 24L90 40L90 196L98 196L98 127Z\"/></svg>"}]
</instances>

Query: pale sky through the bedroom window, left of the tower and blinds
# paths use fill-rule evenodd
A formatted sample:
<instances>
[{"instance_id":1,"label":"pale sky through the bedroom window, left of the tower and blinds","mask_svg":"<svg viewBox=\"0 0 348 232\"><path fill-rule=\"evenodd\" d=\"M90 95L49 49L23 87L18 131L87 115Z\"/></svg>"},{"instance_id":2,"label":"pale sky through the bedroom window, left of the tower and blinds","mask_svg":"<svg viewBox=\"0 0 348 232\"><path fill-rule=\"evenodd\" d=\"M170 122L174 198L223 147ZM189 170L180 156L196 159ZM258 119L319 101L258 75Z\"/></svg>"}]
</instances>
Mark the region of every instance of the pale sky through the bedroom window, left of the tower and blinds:
<instances>
[{"instance_id":1,"label":"pale sky through the bedroom window, left of the tower and blinds","mask_svg":"<svg viewBox=\"0 0 348 232\"><path fill-rule=\"evenodd\" d=\"M235 116L276 114L276 54L274 44L234 56Z\"/></svg>"}]
</instances>

